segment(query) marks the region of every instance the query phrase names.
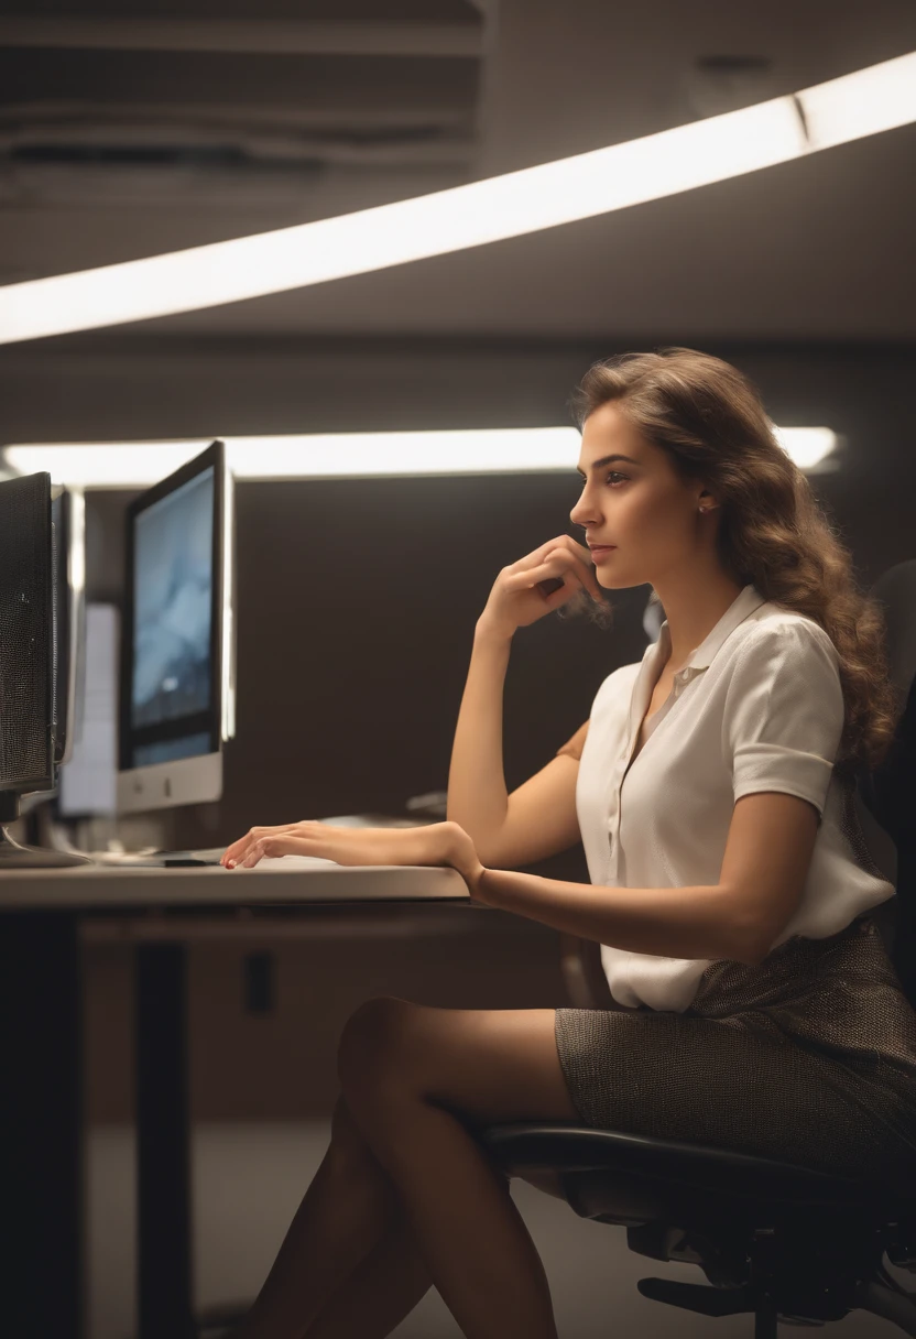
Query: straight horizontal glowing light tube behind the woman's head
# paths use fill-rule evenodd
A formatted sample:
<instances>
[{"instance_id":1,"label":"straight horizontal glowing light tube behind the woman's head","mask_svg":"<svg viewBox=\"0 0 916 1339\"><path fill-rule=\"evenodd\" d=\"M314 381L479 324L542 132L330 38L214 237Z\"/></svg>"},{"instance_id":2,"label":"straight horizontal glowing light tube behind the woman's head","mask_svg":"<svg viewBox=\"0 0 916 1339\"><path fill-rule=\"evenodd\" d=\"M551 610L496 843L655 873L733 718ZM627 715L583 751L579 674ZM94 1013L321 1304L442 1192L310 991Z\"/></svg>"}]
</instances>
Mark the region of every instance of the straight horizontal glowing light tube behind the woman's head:
<instances>
[{"instance_id":1,"label":"straight horizontal glowing light tube behind the woman's head","mask_svg":"<svg viewBox=\"0 0 916 1339\"><path fill-rule=\"evenodd\" d=\"M826 427L775 428L801 469L836 446ZM236 437L226 443L237 479L371 478L422 474L570 474L579 459L575 427L513 427L443 432L325 432ZM29 443L5 447L16 474L47 470L55 483L87 489L149 487L198 455L210 439L182 442Z\"/></svg>"}]
</instances>

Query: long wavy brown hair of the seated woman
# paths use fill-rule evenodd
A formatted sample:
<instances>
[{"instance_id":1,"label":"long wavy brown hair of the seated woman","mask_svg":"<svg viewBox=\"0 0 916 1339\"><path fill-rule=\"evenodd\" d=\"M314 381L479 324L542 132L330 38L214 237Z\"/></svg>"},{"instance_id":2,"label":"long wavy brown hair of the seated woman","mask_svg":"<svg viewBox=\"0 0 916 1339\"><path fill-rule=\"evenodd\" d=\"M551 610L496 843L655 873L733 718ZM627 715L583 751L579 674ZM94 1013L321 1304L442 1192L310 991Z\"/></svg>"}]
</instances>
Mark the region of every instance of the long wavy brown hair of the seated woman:
<instances>
[{"instance_id":1,"label":"long wavy brown hair of the seated woman","mask_svg":"<svg viewBox=\"0 0 916 1339\"><path fill-rule=\"evenodd\" d=\"M700 479L716 498L718 554L733 580L824 628L846 708L836 767L876 767L901 708L881 605L858 588L848 548L779 446L757 387L719 358L672 347L595 363L572 396L579 427L609 400L683 479Z\"/></svg>"}]
</instances>

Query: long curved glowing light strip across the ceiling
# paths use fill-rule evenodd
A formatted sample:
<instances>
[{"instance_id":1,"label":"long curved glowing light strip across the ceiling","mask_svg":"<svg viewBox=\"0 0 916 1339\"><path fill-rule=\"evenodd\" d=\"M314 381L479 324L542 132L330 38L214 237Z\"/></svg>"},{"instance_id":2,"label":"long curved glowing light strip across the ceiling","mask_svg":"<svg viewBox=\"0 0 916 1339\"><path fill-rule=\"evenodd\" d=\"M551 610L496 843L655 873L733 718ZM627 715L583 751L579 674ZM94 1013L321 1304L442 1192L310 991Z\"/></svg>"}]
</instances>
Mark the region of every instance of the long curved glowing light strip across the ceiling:
<instances>
[{"instance_id":1,"label":"long curved glowing light strip across the ceiling","mask_svg":"<svg viewBox=\"0 0 916 1339\"><path fill-rule=\"evenodd\" d=\"M0 288L0 344L174 316L521 237L916 121L916 52L415 200Z\"/></svg>"}]
</instances>

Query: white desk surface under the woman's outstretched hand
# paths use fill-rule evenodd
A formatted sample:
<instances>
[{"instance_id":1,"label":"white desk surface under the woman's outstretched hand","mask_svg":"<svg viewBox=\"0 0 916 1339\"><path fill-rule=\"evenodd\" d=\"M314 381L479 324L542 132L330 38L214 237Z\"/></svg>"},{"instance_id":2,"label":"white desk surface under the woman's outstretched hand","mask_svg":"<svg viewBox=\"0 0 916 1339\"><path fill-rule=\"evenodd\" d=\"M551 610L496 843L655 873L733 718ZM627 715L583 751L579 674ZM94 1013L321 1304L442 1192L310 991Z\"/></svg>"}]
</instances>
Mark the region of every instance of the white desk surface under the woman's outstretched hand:
<instances>
[{"instance_id":1,"label":"white desk surface under the woman's outstretched hand","mask_svg":"<svg viewBox=\"0 0 916 1339\"><path fill-rule=\"evenodd\" d=\"M455 869L419 865L304 866L276 860L254 869L80 865L0 872L0 915L131 907L244 907L296 902L469 901Z\"/></svg>"}]
</instances>

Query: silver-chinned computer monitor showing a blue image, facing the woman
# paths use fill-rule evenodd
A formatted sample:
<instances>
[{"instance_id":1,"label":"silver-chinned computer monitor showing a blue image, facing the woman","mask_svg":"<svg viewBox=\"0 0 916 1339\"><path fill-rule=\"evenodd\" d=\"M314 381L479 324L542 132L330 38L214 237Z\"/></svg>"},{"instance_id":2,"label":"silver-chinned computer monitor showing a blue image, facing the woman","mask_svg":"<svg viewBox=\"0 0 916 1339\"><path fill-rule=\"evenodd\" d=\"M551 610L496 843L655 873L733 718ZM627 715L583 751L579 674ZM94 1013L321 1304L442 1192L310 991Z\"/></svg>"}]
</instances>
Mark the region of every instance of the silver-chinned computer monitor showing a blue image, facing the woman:
<instances>
[{"instance_id":1,"label":"silver-chinned computer monitor showing a blue image, facing the woman","mask_svg":"<svg viewBox=\"0 0 916 1339\"><path fill-rule=\"evenodd\" d=\"M213 442L127 507L118 813L222 794L234 734L233 485Z\"/></svg>"}]
</instances>

